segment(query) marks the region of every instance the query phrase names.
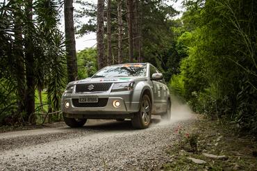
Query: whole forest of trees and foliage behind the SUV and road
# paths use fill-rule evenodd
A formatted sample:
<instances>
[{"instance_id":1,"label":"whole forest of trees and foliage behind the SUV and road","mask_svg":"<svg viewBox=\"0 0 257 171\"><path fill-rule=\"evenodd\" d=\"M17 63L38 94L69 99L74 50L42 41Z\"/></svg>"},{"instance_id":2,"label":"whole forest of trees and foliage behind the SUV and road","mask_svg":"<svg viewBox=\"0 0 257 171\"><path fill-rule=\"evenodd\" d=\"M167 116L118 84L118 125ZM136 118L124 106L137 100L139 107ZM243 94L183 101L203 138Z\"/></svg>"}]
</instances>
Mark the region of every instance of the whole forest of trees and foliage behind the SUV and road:
<instances>
[{"instance_id":1,"label":"whole forest of trees and foliage behind the SUV and road","mask_svg":"<svg viewBox=\"0 0 257 171\"><path fill-rule=\"evenodd\" d=\"M0 126L58 112L69 81L148 62L194 112L257 133L256 3L183 0L182 13L159 0L2 0ZM76 51L91 32L97 47Z\"/></svg>"}]
</instances>

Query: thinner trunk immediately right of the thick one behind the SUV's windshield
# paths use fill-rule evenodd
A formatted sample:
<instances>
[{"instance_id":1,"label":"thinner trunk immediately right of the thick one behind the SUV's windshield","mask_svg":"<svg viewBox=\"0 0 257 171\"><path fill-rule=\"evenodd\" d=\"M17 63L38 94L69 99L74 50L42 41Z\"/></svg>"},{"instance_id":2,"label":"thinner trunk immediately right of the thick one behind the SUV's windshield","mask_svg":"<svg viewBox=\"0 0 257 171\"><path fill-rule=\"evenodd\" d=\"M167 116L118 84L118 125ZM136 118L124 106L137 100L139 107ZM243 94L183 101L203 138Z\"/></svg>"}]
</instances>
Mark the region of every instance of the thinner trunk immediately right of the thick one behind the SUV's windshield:
<instances>
[{"instance_id":1,"label":"thinner trunk immediately right of the thick one behind the SUV's windshield","mask_svg":"<svg viewBox=\"0 0 257 171\"><path fill-rule=\"evenodd\" d=\"M112 61L112 35L111 35L111 25L110 25L110 0L107 3L107 65L111 65Z\"/></svg>"}]
</instances>

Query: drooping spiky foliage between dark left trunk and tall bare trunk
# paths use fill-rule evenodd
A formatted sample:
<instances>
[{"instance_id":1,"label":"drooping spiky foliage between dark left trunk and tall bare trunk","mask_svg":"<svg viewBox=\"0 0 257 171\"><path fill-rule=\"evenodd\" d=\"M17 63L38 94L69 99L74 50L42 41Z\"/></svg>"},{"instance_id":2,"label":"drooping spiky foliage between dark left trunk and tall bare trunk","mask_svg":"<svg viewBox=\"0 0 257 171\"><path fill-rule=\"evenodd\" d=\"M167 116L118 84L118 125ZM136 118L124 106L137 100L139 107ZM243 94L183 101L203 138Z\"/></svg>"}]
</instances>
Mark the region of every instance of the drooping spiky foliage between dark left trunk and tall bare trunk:
<instances>
[{"instance_id":1,"label":"drooping spiky foliage between dark left trunk and tall bare trunk","mask_svg":"<svg viewBox=\"0 0 257 171\"><path fill-rule=\"evenodd\" d=\"M42 90L47 86L47 97L54 111L60 108L60 99L65 88L66 59L65 40L58 30L58 3L40 0L35 3L38 24L38 58L36 58L37 86ZM50 15L51 14L51 15ZM43 38L43 39L42 39Z\"/></svg>"}]
</instances>

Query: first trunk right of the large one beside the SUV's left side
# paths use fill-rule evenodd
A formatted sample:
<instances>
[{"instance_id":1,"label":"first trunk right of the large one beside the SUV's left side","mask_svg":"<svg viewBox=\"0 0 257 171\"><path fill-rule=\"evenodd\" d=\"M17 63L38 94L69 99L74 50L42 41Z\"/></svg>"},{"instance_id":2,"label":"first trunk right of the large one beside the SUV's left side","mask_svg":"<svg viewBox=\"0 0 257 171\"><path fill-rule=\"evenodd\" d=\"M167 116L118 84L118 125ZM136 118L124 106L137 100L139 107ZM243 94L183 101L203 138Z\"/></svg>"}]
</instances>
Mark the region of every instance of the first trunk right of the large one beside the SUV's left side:
<instances>
[{"instance_id":1,"label":"first trunk right of the large one beside the SUV's left side","mask_svg":"<svg viewBox=\"0 0 257 171\"><path fill-rule=\"evenodd\" d=\"M104 42L103 42L103 25L104 17L104 0L98 0L97 2L97 58L98 58L98 70L106 65L104 58Z\"/></svg>"}]
</instances>

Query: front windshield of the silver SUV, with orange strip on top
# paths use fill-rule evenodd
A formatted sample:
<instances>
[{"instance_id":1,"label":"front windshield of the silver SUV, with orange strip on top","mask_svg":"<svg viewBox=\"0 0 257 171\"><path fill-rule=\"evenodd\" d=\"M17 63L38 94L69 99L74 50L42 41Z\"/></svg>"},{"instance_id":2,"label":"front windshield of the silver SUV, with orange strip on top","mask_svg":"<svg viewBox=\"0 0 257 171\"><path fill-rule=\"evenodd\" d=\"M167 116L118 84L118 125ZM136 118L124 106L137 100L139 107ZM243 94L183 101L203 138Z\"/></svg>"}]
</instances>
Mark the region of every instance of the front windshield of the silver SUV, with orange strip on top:
<instances>
[{"instance_id":1,"label":"front windshield of the silver SUV, with orange strip on top","mask_svg":"<svg viewBox=\"0 0 257 171\"><path fill-rule=\"evenodd\" d=\"M102 70L94 74L92 78L99 77L119 77L119 76L146 76L146 64L129 64L129 65L114 65L104 67Z\"/></svg>"}]
</instances>

